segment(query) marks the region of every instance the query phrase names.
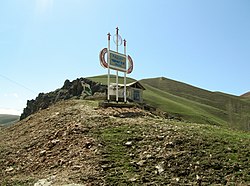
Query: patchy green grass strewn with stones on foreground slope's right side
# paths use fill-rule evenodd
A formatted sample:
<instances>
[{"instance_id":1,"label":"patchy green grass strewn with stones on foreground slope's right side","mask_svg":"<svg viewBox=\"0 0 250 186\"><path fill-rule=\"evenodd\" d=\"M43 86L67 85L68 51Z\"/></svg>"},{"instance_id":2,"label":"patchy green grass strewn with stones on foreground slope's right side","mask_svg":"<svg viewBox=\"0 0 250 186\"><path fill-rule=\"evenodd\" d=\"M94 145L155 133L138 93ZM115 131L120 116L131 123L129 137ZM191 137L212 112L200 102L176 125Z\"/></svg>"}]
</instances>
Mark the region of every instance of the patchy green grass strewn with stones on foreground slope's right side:
<instances>
[{"instance_id":1,"label":"patchy green grass strewn with stones on foreground slope's right side","mask_svg":"<svg viewBox=\"0 0 250 186\"><path fill-rule=\"evenodd\" d=\"M108 185L196 185L196 175L205 185L250 182L247 132L166 120L117 123L99 132ZM131 147L124 145L127 141ZM156 173L159 162L164 163L161 174Z\"/></svg>"}]
</instances>

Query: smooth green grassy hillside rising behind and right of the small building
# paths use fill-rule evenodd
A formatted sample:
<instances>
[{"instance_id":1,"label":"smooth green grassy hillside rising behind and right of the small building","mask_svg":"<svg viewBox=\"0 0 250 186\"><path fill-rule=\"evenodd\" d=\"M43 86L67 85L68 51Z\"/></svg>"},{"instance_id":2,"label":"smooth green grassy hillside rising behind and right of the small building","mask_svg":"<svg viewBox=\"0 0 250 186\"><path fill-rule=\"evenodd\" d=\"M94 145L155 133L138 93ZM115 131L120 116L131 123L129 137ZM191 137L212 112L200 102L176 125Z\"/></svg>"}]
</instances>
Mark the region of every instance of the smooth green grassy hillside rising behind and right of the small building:
<instances>
[{"instance_id":1,"label":"smooth green grassy hillside rising behind and right of the small building","mask_svg":"<svg viewBox=\"0 0 250 186\"><path fill-rule=\"evenodd\" d=\"M250 103L241 97L210 92L164 77L140 82L147 88L145 100L166 112L194 122L250 129Z\"/></svg>"}]
</instances>

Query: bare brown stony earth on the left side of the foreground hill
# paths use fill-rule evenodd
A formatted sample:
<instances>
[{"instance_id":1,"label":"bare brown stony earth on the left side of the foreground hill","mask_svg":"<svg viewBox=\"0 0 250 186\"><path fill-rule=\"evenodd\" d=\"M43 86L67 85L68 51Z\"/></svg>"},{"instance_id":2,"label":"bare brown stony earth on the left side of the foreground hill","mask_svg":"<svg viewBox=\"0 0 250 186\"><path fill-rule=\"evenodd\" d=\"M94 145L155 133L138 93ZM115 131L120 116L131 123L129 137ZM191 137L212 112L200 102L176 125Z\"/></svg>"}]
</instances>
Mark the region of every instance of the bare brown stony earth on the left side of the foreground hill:
<instances>
[{"instance_id":1,"label":"bare brown stony earth on the left side of the foreground hill","mask_svg":"<svg viewBox=\"0 0 250 186\"><path fill-rule=\"evenodd\" d=\"M3 129L0 181L54 175L58 185L72 181L103 184L100 144L90 130L107 125L112 116L138 117L146 112L95 106L91 101L62 101Z\"/></svg>"}]
</instances>

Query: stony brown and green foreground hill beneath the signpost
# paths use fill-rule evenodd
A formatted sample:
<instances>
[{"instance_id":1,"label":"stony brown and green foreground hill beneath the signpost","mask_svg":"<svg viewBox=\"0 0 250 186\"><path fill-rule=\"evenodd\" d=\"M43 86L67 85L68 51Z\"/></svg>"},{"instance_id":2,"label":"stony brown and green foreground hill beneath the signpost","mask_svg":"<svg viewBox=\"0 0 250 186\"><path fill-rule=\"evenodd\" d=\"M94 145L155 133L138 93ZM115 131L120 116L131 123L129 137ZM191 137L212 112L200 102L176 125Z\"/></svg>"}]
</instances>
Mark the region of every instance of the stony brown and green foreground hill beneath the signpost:
<instances>
[{"instance_id":1,"label":"stony brown and green foreground hill beneath the signpost","mask_svg":"<svg viewBox=\"0 0 250 186\"><path fill-rule=\"evenodd\" d=\"M250 133L61 100L0 130L2 185L248 185Z\"/></svg>"}]
</instances>

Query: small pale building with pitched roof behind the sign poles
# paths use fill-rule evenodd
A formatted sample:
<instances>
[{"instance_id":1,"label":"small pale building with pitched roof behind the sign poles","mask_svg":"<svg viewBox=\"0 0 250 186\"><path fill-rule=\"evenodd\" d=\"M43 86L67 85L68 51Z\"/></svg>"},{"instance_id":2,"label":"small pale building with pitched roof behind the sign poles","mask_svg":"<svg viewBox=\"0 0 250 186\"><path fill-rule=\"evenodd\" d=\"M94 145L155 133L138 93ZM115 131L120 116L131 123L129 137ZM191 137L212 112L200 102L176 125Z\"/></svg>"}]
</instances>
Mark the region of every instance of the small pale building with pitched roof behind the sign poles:
<instances>
[{"instance_id":1,"label":"small pale building with pitched roof behind the sign poles","mask_svg":"<svg viewBox=\"0 0 250 186\"><path fill-rule=\"evenodd\" d=\"M133 101L137 103L143 102L143 91L145 88L138 81L126 84L126 96L128 101ZM118 98L119 100L124 99L124 84L118 84ZM116 98L116 84L110 85L110 97L111 100Z\"/></svg>"}]
</instances>

